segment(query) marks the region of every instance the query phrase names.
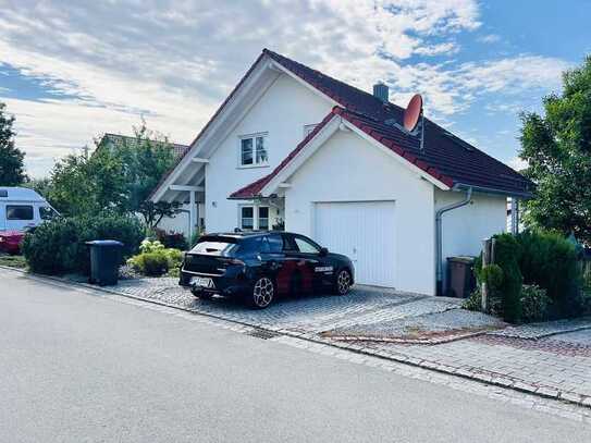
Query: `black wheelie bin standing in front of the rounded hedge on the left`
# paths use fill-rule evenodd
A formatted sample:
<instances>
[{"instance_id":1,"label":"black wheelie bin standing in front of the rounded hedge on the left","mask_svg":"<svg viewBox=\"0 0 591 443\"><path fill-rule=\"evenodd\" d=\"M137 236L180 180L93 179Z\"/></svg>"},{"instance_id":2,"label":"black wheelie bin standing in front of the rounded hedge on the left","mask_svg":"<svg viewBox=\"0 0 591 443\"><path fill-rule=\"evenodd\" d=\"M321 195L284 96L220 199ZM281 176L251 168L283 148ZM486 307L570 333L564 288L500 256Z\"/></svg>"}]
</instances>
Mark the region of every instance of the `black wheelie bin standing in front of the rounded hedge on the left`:
<instances>
[{"instance_id":1,"label":"black wheelie bin standing in front of the rounded hedge on the left","mask_svg":"<svg viewBox=\"0 0 591 443\"><path fill-rule=\"evenodd\" d=\"M86 242L90 248L90 283L99 286L115 285L119 280L123 243L114 239Z\"/></svg>"}]
</instances>

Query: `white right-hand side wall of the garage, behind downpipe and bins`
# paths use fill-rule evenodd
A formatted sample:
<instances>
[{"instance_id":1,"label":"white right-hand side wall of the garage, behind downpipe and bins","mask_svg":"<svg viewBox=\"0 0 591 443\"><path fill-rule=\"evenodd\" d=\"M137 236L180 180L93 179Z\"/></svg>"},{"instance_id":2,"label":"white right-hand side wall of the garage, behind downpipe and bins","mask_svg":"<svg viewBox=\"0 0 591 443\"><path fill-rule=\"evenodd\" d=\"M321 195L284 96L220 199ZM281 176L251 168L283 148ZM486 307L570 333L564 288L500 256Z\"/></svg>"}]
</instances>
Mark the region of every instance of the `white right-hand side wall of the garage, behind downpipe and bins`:
<instances>
[{"instance_id":1,"label":"white right-hand side wall of the garage, behind downpipe and bins","mask_svg":"<svg viewBox=\"0 0 591 443\"><path fill-rule=\"evenodd\" d=\"M465 198L464 193L435 190L435 210ZM507 227L507 199L475 193L472 204L442 217L443 288L447 276L447 257L478 256L482 239L505 232Z\"/></svg>"}]
</instances>

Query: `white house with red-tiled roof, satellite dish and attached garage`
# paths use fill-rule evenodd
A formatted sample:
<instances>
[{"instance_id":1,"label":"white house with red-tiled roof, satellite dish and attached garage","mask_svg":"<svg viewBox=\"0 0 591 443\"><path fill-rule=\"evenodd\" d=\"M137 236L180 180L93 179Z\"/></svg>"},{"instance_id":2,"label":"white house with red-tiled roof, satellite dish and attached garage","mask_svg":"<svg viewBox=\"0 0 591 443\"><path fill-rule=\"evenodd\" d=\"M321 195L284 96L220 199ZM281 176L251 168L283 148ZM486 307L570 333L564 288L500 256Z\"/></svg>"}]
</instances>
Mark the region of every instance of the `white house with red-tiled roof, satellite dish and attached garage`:
<instances>
[{"instance_id":1,"label":"white house with red-tiled roof, satellite dish and attached garage","mask_svg":"<svg viewBox=\"0 0 591 443\"><path fill-rule=\"evenodd\" d=\"M446 257L479 254L531 183L427 119L421 146L403 112L384 85L264 49L150 198L188 195L207 232L284 223L350 257L357 283L436 294Z\"/></svg>"}]
</instances>

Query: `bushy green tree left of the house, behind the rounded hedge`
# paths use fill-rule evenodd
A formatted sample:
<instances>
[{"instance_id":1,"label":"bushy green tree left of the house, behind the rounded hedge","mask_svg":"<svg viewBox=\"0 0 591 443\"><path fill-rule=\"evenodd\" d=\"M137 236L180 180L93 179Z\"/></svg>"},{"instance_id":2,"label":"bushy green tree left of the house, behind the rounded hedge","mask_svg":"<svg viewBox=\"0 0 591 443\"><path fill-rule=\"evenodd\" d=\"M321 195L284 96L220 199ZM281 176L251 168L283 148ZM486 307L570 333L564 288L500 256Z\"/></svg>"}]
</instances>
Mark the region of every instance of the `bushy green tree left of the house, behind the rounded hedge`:
<instances>
[{"instance_id":1,"label":"bushy green tree left of the house, behind the rounded hedge","mask_svg":"<svg viewBox=\"0 0 591 443\"><path fill-rule=\"evenodd\" d=\"M174 162L170 144L145 123L134 132L135 137L123 138L121 144L98 141L91 156L84 152L58 161L47 190L53 207L66 216L104 210L138 213L148 227L156 227L164 217L174 217L180 205L147 201Z\"/></svg>"}]
</instances>

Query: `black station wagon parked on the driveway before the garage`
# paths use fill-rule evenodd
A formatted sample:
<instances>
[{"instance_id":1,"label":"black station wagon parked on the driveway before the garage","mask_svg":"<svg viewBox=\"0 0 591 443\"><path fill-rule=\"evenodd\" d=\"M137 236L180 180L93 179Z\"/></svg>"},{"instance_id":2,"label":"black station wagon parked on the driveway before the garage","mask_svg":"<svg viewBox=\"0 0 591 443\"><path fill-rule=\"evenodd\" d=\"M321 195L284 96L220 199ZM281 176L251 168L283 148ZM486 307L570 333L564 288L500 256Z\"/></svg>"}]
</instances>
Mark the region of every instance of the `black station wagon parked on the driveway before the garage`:
<instances>
[{"instance_id":1,"label":"black station wagon parked on the driveway before the garage","mask_svg":"<svg viewBox=\"0 0 591 443\"><path fill-rule=\"evenodd\" d=\"M353 285L350 260L310 238L285 232L208 234L185 255L180 285L200 298L244 297L266 308L279 294L330 290L344 295Z\"/></svg>"}]
</instances>

